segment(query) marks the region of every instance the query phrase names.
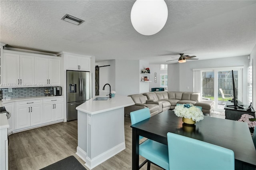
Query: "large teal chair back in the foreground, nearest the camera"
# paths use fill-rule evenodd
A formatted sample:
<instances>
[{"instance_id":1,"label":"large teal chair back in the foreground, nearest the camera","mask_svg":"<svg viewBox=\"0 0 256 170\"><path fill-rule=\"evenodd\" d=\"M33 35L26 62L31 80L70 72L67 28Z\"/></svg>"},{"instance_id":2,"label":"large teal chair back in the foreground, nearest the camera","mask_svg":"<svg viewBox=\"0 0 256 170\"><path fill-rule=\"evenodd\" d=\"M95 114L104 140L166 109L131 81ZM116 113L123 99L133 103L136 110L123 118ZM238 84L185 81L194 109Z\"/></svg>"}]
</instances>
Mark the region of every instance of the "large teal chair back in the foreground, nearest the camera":
<instances>
[{"instance_id":1,"label":"large teal chair back in the foreground, nearest the camera","mask_svg":"<svg viewBox=\"0 0 256 170\"><path fill-rule=\"evenodd\" d=\"M234 170L234 152L214 144L167 133L170 170Z\"/></svg>"}]
</instances>

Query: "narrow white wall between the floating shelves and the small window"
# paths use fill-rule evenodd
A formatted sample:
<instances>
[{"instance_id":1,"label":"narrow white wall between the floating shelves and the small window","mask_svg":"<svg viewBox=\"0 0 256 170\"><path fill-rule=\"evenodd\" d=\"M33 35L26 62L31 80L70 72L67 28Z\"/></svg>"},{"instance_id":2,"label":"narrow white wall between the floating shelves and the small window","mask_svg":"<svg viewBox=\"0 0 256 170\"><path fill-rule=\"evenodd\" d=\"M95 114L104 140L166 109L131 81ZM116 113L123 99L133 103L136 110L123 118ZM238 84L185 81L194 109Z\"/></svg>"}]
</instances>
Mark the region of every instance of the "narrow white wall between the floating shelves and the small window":
<instances>
[{"instance_id":1,"label":"narrow white wall between the floating shelves and the small window","mask_svg":"<svg viewBox=\"0 0 256 170\"><path fill-rule=\"evenodd\" d=\"M151 88L160 87L160 74L167 73L167 70L160 70L160 64L150 64L149 68L151 73L150 81L152 81L149 83L149 91L151 91ZM156 73L156 83L154 73Z\"/></svg>"}]
</instances>

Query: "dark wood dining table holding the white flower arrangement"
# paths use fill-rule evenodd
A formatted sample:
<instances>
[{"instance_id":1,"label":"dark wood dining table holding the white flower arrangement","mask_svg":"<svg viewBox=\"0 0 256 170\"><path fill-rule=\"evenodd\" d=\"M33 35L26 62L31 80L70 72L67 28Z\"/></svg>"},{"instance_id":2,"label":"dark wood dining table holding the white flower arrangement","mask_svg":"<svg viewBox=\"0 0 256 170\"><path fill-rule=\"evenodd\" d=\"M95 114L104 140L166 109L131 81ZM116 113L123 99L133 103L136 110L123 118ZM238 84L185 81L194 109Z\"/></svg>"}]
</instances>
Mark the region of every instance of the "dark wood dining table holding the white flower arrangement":
<instances>
[{"instance_id":1,"label":"dark wood dining table holding the white flower arrangement","mask_svg":"<svg viewBox=\"0 0 256 170\"><path fill-rule=\"evenodd\" d=\"M132 170L139 169L139 136L167 145L167 132L188 136L234 151L235 169L256 168L256 149L247 123L204 116L195 126L188 126L174 111L167 110L132 127Z\"/></svg>"}]
</instances>

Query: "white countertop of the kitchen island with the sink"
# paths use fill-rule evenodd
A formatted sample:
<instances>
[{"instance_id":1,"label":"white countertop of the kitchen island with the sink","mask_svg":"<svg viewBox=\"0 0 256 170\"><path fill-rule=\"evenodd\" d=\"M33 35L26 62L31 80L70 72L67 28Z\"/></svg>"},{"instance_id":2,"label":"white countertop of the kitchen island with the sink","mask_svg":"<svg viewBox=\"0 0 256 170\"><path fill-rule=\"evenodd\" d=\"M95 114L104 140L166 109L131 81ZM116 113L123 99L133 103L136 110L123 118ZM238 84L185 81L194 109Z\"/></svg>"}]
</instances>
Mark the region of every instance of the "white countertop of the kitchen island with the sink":
<instances>
[{"instance_id":1,"label":"white countertop of the kitchen island with the sink","mask_svg":"<svg viewBox=\"0 0 256 170\"><path fill-rule=\"evenodd\" d=\"M88 113L90 115L95 115L98 113L103 113L114 109L120 109L122 107L127 107L135 104L132 98L128 96L116 95L115 97L112 97L108 100L94 101L96 97L101 96L93 97L92 99L86 101L82 105L76 107L76 110Z\"/></svg>"}]
</instances>

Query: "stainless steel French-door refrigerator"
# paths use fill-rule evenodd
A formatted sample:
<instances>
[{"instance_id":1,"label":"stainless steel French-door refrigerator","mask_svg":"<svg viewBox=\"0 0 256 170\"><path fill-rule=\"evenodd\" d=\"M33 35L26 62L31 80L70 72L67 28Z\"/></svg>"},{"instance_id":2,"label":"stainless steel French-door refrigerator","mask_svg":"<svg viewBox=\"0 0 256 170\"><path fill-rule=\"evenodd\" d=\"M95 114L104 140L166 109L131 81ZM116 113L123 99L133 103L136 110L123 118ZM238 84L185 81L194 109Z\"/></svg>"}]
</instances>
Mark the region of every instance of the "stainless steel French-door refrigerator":
<instances>
[{"instance_id":1,"label":"stainless steel French-door refrigerator","mask_svg":"<svg viewBox=\"0 0 256 170\"><path fill-rule=\"evenodd\" d=\"M67 121L77 119L76 107L92 98L92 75L67 70Z\"/></svg>"}]
</instances>

